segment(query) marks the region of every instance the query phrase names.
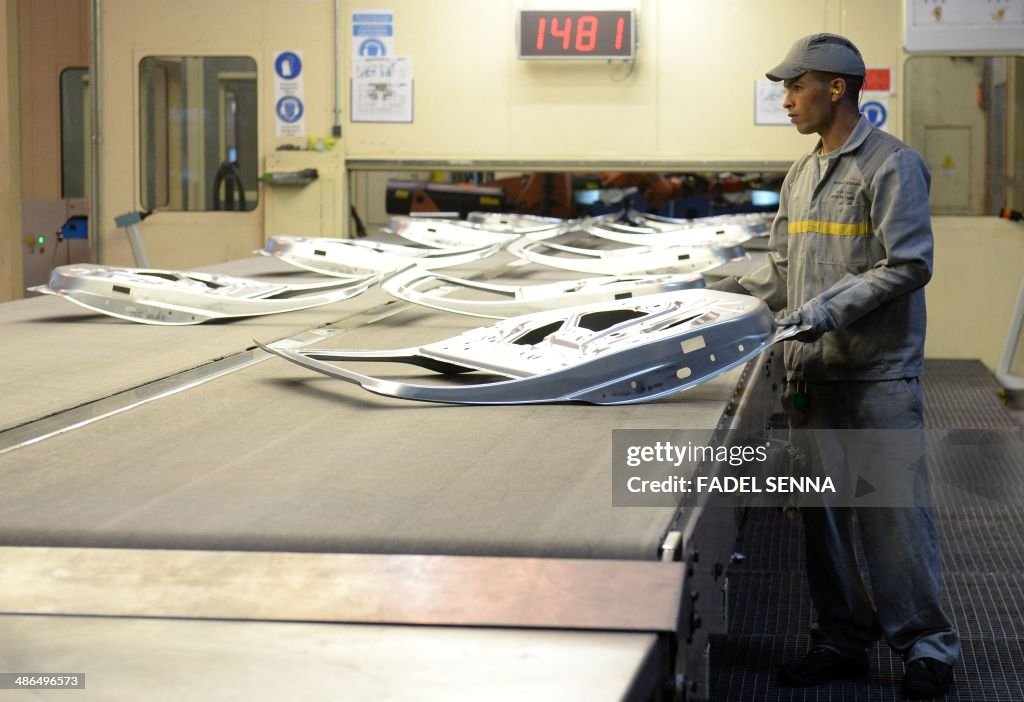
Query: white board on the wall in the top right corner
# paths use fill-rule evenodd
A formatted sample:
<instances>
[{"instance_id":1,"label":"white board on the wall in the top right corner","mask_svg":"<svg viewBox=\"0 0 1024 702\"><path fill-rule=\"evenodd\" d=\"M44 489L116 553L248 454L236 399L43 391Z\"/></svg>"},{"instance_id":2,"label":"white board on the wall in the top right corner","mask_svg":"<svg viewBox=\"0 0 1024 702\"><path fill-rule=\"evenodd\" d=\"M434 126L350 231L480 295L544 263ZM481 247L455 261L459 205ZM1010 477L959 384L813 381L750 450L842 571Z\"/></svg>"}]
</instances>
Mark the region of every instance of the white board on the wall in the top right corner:
<instances>
[{"instance_id":1,"label":"white board on the wall in the top right corner","mask_svg":"<svg viewBox=\"0 0 1024 702\"><path fill-rule=\"evenodd\" d=\"M1024 50L1024 0L906 0L907 51Z\"/></svg>"}]
</instances>

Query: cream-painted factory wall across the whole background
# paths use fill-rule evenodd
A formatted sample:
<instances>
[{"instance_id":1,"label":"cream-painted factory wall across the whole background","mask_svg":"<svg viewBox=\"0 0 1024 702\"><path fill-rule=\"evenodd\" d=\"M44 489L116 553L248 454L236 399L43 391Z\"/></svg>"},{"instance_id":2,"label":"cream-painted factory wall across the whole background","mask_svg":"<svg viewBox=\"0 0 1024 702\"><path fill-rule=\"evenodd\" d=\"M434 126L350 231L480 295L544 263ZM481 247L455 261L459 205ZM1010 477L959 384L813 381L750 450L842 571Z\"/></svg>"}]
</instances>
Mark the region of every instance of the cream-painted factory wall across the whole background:
<instances>
[{"instance_id":1,"label":"cream-painted factory wall across the whole background","mask_svg":"<svg viewBox=\"0 0 1024 702\"><path fill-rule=\"evenodd\" d=\"M37 3L38 4L38 3ZM902 3L891 0L757 0L678 2L628 0L638 11L640 47L635 65L516 58L515 16L540 0L342 0L343 138L336 147L349 163L522 162L672 165L673 170L784 169L812 145L792 127L754 124L755 81L785 52L793 39L816 31L851 37L869 65L895 69L895 94L887 128L903 136L904 64ZM32 157L25 183L16 168L22 105L34 117L23 129L26 148L45 146L52 128L37 130L17 94L16 0L4 0L0 49L8 57L0 76L5 105L0 148L13 155L0 168L0 295L20 295L18 195L48 198L58 187L52 153ZM139 61L147 55L250 56L259 76L258 139L262 163L282 145L305 146L305 138L278 136L272 60L280 50L302 52L305 65L306 133L328 136L334 122L335 3L331 0L101 0L101 90L103 121L99 150L100 260L130 264L128 243L114 216L141 208L139 155ZM588 7L623 7L599 0ZM415 80L412 124L352 122L348 94L351 13L394 13L394 49L410 56ZM54 49L56 50L56 49ZM35 59L34 59L35 60ZM48 99L48 98L47 98ZM51 100L52 101L52 100ZM43 124L40 122L40 124ZM1016 130L1017 138L1021 129ZM5 141L6 139L6 141ZM304 157L289 157L301 159ZM315 160L315 155L308 159ZM435 167L434 165L431 168ZM46 175L49 174L49 175ZM52 184L47 184L47 183ZM260 187L252 212L159 211L142 225L151 261L170 268L195 267L248 256L266 231L268 201ZM1020 225L993 217L936 217L936 275L929 288L929 353L980 357L994 366L1024 257L1017 251ZM302 232L296 232L302 233ZM339 231L339 233L342 233ZM968 264L970 262L970 264ZM984 279L978 280L979 271ZM975 294L973 291L978 291ZM968 294L965 294L968 292ZM974 330L965 334L965 324Z\"/></svg>"}]
</instances>

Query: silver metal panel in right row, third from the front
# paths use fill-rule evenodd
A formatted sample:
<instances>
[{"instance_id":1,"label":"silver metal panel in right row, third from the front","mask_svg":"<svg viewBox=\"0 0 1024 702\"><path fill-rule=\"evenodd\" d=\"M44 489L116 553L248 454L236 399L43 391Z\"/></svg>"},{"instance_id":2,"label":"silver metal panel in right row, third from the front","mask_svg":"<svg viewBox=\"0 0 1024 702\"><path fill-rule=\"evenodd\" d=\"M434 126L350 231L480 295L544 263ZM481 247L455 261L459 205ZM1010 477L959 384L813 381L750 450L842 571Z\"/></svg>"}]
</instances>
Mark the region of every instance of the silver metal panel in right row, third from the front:
<instances>
[{"instance_id":1,"label":"silver metal panel in right row, third from the front","mask_svg":"<svg viewBox=\"0 0 1024 702\"><path fill-rule=\"evenodd\" d=\"M695 273L746 256L740 245L585 249L520 238L508 246L514 256L552 268L592 275Z\"/></svg>"}]
</instances>

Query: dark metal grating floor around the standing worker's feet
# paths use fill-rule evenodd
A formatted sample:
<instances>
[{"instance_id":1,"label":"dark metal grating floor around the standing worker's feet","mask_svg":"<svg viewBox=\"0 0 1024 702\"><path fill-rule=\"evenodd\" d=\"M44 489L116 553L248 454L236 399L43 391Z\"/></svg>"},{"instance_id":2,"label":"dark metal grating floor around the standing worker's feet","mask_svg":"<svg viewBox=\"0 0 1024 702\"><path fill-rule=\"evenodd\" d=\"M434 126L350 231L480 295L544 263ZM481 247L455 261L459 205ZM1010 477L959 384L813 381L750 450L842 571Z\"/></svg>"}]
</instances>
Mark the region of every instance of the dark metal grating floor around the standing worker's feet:
<instances>
[{"instance_id":1,"label":"dark metal grating floor around the standing worker's feet","mask_svg":"<svg viewBox=\"0 0 1024 702\"><path fill-rule=\"evenodd\" d=\"M999 387L976 361L929 360L929 469L942 546L944 607L963 640L949 702L1024 700L1024 451ZM730 569L729 633L713 641L714 700L889 702L903 664L883 644L866 681L809 690L775 685L806 652L812 610L799 521L759 510L743 524Z\"/></svg>"}]
</instances>

